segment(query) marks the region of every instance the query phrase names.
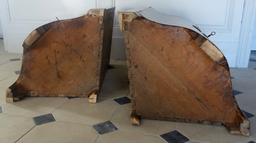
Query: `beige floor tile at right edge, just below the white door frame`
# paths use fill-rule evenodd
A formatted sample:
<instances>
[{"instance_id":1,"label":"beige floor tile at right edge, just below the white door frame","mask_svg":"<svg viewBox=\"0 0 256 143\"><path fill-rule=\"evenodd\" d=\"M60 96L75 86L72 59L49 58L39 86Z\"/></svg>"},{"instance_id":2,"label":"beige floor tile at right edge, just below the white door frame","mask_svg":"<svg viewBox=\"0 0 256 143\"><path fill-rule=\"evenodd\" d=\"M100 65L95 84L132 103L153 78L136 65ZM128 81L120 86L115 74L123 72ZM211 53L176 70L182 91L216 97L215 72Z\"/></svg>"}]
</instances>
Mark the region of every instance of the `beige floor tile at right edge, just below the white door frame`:
<instances>
[{"instance_id":1,"label":"beige floor tile at right edge, just below the white door frame","mask_svg":"<svg viewBox=\"0 0 256 143\"><path fill-rule=\"evenodd\" d=\"M256 80L255 69L243 69L243 68L230 68L231 77L246 78Z\"/></svg>"}]
</instances>

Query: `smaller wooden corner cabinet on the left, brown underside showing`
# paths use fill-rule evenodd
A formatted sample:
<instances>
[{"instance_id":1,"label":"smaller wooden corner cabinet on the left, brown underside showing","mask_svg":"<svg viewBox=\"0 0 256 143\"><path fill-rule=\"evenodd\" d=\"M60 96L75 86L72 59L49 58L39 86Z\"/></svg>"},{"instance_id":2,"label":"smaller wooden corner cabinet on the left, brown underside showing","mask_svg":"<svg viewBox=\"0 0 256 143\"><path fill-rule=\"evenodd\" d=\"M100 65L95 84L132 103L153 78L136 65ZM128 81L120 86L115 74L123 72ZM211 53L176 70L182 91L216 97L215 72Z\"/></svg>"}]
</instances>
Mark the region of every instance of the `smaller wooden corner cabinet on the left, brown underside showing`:
<instances>
[{"instance_id":1,"label":"smaller wooden corner cabinet on the left, brown underside showing","mask_svg":"<svg viewBox=\"0 0 256 143\"><path fill-rule=\"evenodd\" d=\"M91 9L32 31L23 43L20 76L6 90L6 102L25 96L97 97L110 60L114 10Z\"/></svg>"}]
</instances>

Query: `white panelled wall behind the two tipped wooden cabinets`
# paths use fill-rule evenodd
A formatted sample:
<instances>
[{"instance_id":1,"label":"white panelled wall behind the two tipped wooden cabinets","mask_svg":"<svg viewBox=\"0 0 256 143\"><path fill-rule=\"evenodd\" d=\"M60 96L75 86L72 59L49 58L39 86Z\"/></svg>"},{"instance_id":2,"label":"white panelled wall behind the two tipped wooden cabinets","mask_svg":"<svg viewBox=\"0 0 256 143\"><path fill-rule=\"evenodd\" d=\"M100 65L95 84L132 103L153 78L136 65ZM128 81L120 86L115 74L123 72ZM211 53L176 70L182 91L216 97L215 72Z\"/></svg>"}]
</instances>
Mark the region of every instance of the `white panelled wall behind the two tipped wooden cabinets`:
<instances>
[{"instance_id":1,"label":"white panelled wall behind the two tipped wooden cabinets","mask_svg":"<svg viewBox=\"0 0 256 143\"><path fill-rule=\"evenodd\" d=\"M22 43L37 27L58 19L79 17L89 9L116 6L112 40L112 59L125 60L124 34L119 30L117 11L152 6L164 14L185 17L218 46L235 67L244 0L0 0L5 48L22 53ZM50 3L50 4L49 4Z\"/></svg>"}]
</instances>

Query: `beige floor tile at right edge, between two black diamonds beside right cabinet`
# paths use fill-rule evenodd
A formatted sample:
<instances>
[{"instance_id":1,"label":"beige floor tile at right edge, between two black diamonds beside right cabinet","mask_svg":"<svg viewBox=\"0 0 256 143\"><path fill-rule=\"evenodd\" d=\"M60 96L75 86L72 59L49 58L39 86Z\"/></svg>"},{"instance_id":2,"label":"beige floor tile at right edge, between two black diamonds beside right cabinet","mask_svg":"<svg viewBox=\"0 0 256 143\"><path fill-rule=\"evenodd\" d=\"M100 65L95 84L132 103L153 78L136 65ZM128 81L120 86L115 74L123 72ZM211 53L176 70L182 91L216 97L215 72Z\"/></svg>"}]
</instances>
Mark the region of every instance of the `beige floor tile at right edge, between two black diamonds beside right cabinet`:
<instances>
[{"instance_id":1,"label":"beige floor tile at right edge, between two black diamonds beside right cabinet","mask_svg":"<svg viewBox=\"0 0 256 143\"><path fill-rule=\"evenodd\" d=\"M236 95L235 98L240 109L256 115L256 93L242 93Z\"/></svg>"}]
</instances>

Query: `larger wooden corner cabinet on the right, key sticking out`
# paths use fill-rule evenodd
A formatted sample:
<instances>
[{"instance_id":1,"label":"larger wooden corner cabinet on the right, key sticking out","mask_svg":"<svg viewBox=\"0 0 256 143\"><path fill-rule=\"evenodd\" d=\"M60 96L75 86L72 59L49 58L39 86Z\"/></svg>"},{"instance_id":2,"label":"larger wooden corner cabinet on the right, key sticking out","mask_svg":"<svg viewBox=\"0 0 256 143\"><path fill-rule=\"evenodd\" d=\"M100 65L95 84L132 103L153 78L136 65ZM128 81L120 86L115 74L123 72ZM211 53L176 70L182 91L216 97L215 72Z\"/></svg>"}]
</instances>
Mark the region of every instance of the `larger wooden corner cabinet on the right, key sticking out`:
<instances>
[{"instance_id":1,"label":"larger wooden corner cabinet on the right, key sticking out","mask_svg":"<svg viewBox=\"0 0 256 143\"><path fill-rule=\"evenodd\" d=\"M250 135L221 51L191 21L151 7L118 12L132 94L130 121L221 125Z\"/></svg>"}]
</instances>

